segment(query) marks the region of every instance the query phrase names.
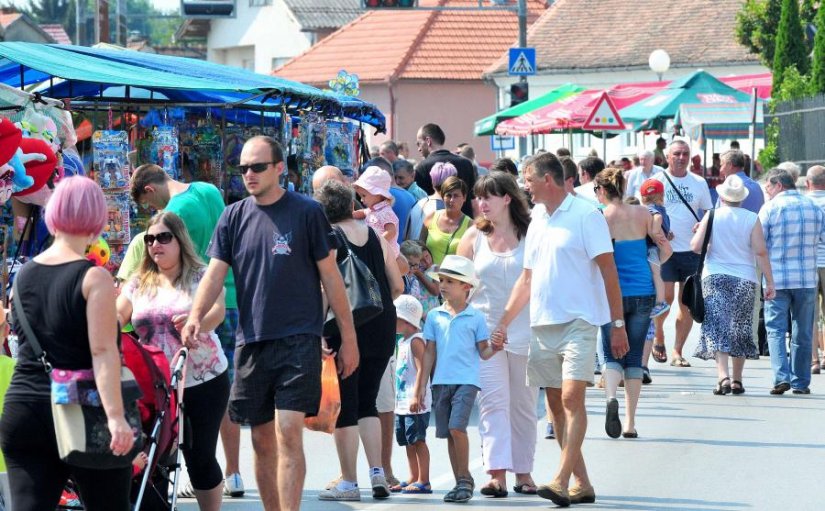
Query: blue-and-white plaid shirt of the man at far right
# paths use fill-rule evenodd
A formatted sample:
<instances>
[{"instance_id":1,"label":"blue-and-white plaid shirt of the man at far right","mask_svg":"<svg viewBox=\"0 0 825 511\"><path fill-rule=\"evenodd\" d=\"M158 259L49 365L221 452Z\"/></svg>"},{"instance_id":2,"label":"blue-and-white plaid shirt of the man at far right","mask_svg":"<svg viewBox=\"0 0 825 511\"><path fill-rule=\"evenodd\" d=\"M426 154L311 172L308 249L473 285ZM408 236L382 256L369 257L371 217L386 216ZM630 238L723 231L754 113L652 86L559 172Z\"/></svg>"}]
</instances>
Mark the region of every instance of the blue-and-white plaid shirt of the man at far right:
<instances>
[{"instance_id":1,"label":"blue-and-white plaid shirt of the man at far right","mask_svg":"<svg viewBox=\"0 0 825 511\"><path fill-rule=\"evenodd\" d=\"M816 251L825 240L825 212L797 190L785 190L759 210L776 289L817 285Z\"/></svg>"}]
</instances>

